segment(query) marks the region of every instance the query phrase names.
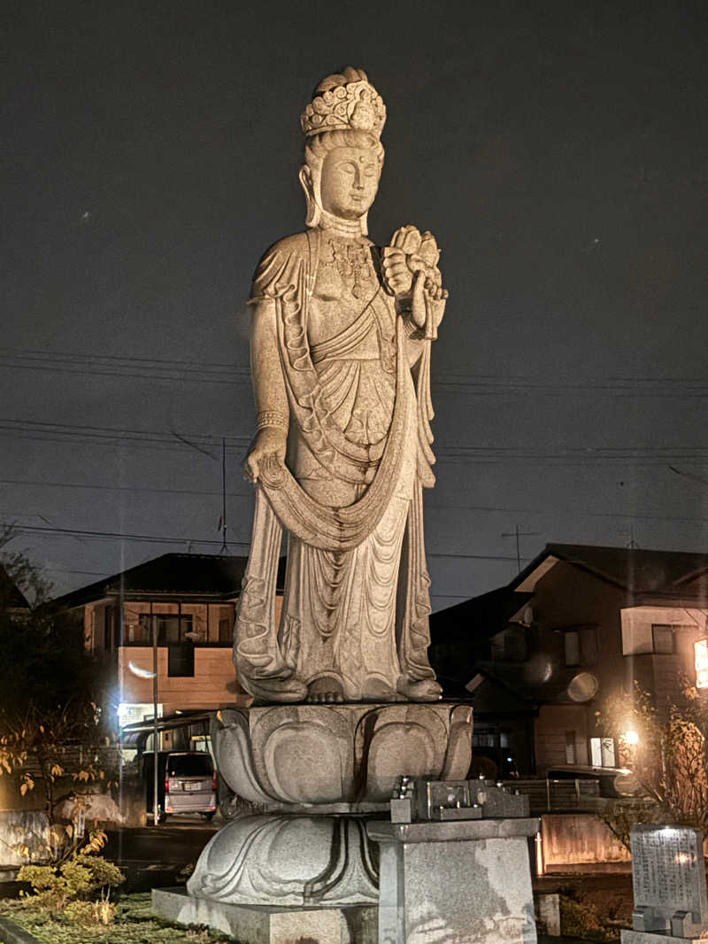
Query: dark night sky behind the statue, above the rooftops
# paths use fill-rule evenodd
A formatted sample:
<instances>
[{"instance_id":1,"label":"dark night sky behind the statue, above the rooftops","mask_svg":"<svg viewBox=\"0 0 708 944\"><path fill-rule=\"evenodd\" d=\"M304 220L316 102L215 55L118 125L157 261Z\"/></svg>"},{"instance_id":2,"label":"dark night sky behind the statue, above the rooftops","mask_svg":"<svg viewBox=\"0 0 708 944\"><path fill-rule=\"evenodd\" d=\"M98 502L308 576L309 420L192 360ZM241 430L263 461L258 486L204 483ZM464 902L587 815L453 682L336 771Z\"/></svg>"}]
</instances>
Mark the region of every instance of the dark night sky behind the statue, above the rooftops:
<instances>
[{"instance_id":1,"label":"dark night sky behind the statue, above the rooftops","mask_svg":"<svg viewBox=\"0 0 708 944\"><path fill-rule=\"evenodd\" d=\"M706 549L704 0L3 8L0 520L57 593L218 552L222 437L247 552L244 302L347 64L389 115L371 235L430 228L450 292L433 607L508 582L516 528L522 565Z\"/></svg>"}]
</instances>

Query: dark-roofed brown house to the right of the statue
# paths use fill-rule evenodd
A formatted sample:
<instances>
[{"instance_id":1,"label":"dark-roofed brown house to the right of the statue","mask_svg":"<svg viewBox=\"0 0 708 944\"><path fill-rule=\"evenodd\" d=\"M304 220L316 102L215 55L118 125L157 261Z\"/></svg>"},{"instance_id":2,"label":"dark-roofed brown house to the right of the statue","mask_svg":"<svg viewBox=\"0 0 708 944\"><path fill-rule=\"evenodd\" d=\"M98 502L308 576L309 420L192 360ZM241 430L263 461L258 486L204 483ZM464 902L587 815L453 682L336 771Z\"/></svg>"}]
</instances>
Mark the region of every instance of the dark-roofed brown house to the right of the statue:
<instances>
[{"instance_id":1,"label":"dark-roofed brown house to the right of the statue","mask_svg":"<svg viewBox=\"0 0 708 944\"><path fill-rule=\"evenodd\" d=\"M432 615L430 655L497 764L507 746L521 773L615 767L604 701L636 682L666 716L683 676L708 685L706 615L708 555L549 544L507 586Z\"/></svg>"}]
</instances>

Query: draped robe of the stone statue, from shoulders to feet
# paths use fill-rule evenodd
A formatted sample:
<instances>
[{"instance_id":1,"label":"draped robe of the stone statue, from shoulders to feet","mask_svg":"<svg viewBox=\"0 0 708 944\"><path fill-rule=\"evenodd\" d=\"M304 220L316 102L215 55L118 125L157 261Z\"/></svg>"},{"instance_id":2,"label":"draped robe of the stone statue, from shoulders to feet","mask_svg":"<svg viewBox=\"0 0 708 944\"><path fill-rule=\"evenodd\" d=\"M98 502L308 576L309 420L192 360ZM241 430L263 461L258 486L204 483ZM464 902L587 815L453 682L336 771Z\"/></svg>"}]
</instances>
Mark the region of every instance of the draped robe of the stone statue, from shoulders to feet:
<instances>
[{"instance_id":1,"label":"draped robe of the stone statue, from shoulders to feet","mask_svg":"<svg viewBox=\"0 0 708 944\"><path fill-rule=\"evenodd\" d=\"M403 699L406 684L434 680L422 514L434 482L430 341L396 313L375 246L318 230L268 250L250 301L264 299L275 304L290 429L286 464L261 464L234 642L241 682L270 700L300 700L304 686ZM348 324L312 340L315 306L326 315L338 304Z\"/></svg>"}]
</instances>

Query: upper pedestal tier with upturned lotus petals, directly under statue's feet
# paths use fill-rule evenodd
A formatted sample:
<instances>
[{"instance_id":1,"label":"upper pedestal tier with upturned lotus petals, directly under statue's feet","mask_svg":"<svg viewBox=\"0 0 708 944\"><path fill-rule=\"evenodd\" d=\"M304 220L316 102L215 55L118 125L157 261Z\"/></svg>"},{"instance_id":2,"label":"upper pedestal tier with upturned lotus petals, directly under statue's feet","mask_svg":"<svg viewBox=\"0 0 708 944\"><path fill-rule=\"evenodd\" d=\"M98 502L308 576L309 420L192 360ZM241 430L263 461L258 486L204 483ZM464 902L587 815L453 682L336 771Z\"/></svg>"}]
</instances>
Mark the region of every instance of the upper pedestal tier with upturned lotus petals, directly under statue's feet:
<instances>
[{"instance_id":1,"label":"upper pedestal tier with upturned lotus petals, directly under statue's feet","mask_svg":"<svg viewBox=\"0 0 708 944\"><path fill-rule=\"evenodd\" d=\"M464 704L300 704L224 710L211 743L231 789L265 810L366 813L402 773L463 779L471 734Z\"/></svg>"}]
</instances>

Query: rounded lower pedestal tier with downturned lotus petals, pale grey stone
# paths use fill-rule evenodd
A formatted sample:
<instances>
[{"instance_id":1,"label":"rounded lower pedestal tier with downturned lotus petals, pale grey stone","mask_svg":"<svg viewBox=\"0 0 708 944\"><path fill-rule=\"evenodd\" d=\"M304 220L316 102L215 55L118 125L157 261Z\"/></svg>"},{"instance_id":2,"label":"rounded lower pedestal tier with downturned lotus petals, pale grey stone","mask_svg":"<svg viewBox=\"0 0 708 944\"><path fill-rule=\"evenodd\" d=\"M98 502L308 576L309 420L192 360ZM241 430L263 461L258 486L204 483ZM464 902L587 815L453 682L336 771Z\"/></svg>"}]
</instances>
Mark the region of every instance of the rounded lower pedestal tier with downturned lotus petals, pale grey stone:
<instances>
[{"instance_id":1,"label":"rounded lower pedestal tier with downturned lotus petals, pale grey stone","mask_svg":"<svg viewBox=\"0 0 708 944\"><path fill-rule=\"evenodd\" d=\"M234 819L202 851L187 890L227 904L376 904L378 849L362 818Z\"/></svg>"}]
</instances>

